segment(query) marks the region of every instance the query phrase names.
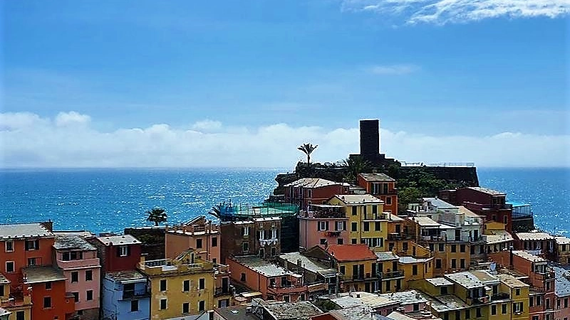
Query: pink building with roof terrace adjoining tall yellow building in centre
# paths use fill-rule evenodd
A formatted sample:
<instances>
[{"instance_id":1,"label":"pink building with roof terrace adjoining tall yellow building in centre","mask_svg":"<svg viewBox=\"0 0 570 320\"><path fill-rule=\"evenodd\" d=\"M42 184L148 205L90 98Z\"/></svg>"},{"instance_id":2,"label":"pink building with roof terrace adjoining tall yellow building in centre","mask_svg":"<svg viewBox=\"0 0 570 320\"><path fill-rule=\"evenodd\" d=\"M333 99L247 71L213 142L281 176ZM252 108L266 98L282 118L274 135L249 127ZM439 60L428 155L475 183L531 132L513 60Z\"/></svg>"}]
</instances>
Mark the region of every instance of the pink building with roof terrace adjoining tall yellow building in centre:
<instances>
[{"instance_id":1,"label":"pink building with roof terrace adjoining tall yellow building in centre","mask_svg":"<svg viewBox=\"0 0 570 320\"><path fill-rule=\"evenodd\" d=\"M326 204L309 205L309 210L299 212L299 247L315 245L348 244L348 218L341 212L342 206Z\"/></svg>"}]
</instances>

